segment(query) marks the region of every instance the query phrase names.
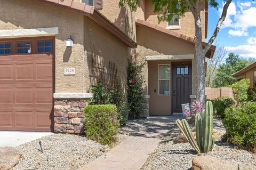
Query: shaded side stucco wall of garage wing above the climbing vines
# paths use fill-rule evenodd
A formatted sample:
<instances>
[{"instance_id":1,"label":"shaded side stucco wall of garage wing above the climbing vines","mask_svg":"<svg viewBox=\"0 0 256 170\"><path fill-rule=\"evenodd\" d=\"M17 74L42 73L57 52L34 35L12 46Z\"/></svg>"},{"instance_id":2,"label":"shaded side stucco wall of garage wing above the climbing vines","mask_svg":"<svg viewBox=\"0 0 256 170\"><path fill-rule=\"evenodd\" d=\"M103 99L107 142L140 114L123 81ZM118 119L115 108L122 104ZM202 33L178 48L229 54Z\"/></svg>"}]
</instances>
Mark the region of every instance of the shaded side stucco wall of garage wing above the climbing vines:
<instances>
[{"instance_id":1,"label":"shaded side stucco wall of garage wing above the climbing vines","mask_svg":"<svg viewBox=\"0 0 256 170\"><path fill-rule=\"evenodd\" d=\"M91 19L85 17L84 23L84 48L86 56L84 62L85 65L88 66L85 67L84 84L86 88L92 84L89 77L92 68L91 53L102 56L103 64L107 66L107 74L109 73L109 61L116 63L119 79L122 80L123 83L126 83L126 68L128 59L131 59L131 55L129 54L130 48L121 43L105 29L99 27L98 24Z\"/></svg>"}]
</instances>

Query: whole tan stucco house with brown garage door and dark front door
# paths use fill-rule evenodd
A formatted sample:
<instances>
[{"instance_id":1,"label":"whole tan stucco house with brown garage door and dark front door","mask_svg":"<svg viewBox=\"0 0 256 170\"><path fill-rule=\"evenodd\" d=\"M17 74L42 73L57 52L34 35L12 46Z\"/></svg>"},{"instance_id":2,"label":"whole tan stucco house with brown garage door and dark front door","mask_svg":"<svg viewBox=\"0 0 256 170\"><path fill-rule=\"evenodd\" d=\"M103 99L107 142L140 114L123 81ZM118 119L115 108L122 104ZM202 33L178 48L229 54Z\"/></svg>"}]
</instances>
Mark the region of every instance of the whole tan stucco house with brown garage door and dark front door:
<instances>
[{"instance_id":1,"label":"whole tan stucco house with brown garage door and dark front door","mask_svg":"<svg viewBox=\"0 0 256 170\"><path fill-rule=\"evenodd\" d=\"M181 112L196 93L193 15L158 24L149 0L118 2L0 0L0 130L82 133L90 86L125 84L132 58L146 62L141 116ZM201 15L206 38L207 3Z\"/></svg>"}]
</instances>

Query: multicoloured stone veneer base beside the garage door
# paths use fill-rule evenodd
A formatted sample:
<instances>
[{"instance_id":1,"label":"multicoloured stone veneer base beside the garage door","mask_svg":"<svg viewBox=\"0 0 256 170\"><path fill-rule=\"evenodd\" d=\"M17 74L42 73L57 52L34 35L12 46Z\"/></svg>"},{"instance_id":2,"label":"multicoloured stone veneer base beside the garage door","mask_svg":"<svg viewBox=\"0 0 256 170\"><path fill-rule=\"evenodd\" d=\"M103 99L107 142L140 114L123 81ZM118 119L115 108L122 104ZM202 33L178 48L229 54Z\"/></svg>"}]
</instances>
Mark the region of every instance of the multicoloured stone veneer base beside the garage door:
<instances>
[{"instance_id":1,"label":"multicoloured stone veneer base beside the garage door","mask_svg":"<svg viewBox=\"0 0 256 170\"><path fill-rule=\"evenodd\" d=\"M54 132L84 133L84 107L87 99L54 99Z\"/></svg>"}]
</instances>

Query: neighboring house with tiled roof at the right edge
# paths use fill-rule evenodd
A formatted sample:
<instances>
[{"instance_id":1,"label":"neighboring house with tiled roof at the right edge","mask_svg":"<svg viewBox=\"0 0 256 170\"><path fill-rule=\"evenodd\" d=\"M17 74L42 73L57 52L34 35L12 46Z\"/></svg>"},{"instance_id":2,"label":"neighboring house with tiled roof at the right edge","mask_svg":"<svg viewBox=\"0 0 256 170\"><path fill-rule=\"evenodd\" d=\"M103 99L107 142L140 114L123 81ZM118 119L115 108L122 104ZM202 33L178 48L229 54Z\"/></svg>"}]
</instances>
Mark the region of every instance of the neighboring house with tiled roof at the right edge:
<instances>
[{"instance_id":1,"label":"neighboring house with tiled roof at the right edge","mask_svg":"<svg viewBox=\"0 0 256 170\"><path fill-rule=\"evenodd\" d=\"M237 80L241 80L243 78L250 79L250 87L256 87L256 62L253 62L246 66L245 68L235 72L232 74L233 77L236 77Z\"/></svg>"}]
</instances>

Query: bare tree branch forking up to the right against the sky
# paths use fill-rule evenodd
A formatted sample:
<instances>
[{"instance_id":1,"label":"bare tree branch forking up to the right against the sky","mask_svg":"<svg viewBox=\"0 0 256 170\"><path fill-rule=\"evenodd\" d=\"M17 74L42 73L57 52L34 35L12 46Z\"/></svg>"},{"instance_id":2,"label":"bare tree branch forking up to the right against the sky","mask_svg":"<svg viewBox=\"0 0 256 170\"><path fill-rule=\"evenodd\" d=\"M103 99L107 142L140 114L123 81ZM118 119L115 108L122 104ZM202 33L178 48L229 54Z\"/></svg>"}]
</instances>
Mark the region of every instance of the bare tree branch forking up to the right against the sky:
<instances>
[{"instance_id":1,"label":"bare tree branch forking up to the right against the sky","mask_svg":"<svg viewBox=\"0 0 256 170\"><path fill-rule=\"evenodd\" d=\"M222 11L221 17L217 23L217 26L214 30L214 33L212 34L212 37L209 39L209 42L207 43L206 47L204 48L205 54L207 53L207 51L209 51L212 43L214 42L214 39L217 37L217 35L220 31L220 26L221 26L222 22L225 21L225 19L226 19L228 6L230 5L231 2L232 2L232 0L228 0L227 3L223 6L223 11Z\"/></svg>"}]
</instances>

